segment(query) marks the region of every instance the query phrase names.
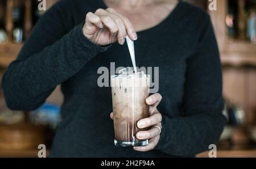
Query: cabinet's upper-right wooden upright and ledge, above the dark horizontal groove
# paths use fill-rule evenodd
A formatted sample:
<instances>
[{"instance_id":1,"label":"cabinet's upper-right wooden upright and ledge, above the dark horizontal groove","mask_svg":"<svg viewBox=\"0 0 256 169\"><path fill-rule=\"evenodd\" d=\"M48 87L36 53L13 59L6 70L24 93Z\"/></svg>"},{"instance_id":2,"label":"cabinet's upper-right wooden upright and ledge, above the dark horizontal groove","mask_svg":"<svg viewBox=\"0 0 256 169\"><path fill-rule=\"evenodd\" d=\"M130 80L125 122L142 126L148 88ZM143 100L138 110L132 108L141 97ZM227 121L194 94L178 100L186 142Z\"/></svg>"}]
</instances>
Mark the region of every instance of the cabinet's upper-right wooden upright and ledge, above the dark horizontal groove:
<instances>
[{"instance_id":1,"label":"cabinet's upper-right wooden upright and ledge, above the dark horizontal groove","mask_svg":"<svg viewBox=\"0 0 256 169\"><path fill-rule=\"evenodd\" d=\"M243 1L243 0L240 0ZM248 41L232 40L228 37L225 23L228 1L217 0L217 10L208 10L216 33L222 65L256 66L256 45Z\"/></svg>"}]
</instances>

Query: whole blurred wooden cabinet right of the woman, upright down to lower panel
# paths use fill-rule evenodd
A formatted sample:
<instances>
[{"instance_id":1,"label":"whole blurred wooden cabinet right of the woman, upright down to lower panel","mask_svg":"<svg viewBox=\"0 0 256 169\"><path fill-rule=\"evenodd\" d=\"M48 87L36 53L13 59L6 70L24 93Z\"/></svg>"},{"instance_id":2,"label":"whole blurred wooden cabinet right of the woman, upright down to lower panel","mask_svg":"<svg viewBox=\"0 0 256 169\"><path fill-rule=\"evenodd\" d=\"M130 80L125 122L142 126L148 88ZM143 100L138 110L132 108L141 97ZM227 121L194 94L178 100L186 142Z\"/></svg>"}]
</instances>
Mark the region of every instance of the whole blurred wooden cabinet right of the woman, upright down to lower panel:
<instances>
[{"instance_id":1,"label":"whole blurred wooden cabinet right of the woman, upright down to lower panel","mask_svg":"<svg viewBox=\"0 0 256 169\"><path fill-rule=\"evenodd\" d=\"M247 122L253 124L256 113L256 44L228 36L225 23L228 0L217 0L217 11L208 12L220 48L224 96L242 105Z\"/></svg>"}]
</instances>

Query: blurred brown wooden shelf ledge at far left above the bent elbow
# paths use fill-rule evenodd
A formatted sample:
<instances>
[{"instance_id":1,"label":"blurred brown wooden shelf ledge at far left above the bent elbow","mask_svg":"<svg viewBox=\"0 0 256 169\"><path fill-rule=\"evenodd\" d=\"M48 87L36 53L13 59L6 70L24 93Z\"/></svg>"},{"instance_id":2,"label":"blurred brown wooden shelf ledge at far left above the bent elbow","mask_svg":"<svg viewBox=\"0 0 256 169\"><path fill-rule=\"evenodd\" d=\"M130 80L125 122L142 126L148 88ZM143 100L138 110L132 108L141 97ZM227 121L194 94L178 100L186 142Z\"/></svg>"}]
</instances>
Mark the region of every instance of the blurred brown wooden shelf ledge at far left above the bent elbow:
<instances>
[{"instance_id":1,"label":"blurred brown wooden shelf ledge at far left above the bent elbow","mask_svg":"<svg viewBox=\"0 0 256 169\"><path fill-rule=\"evenodd\" d=\"M9 64L15 60L20 49L22 48L22 43L5 43L0 44L0 66L7 67Z\"/></svg>"}]
</instances>

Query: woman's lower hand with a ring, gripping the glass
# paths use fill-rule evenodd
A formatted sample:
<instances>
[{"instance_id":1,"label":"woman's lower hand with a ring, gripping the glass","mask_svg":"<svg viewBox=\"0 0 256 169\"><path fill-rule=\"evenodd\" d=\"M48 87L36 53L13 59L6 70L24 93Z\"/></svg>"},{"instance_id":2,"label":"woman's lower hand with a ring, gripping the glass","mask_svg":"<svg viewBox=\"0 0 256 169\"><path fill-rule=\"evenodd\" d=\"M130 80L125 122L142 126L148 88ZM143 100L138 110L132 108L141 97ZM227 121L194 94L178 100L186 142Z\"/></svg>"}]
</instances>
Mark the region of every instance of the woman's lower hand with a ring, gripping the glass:
<instances>
[{"instance_id":1,"label":"woman's lower hand with a ring, gripping the glass","mask_svg":"<svg viewBox=\"0 0 256 169\"><path fill-rule=\"evenodd\" d=\"M160 132L162 129L162 115L159 113L156 107L161 102L162 96L160 94L153 94L146 99L146 103L149 105L150 117L146 119L141 119L137 122L138 128L147 128L151 127L149 130L141 131L136 134L136 137L139 140L149 139L149 143L146 146L134 147L134 150L137 151L149 151L155 148L157 145ZM113 113L110 113L110 118L113 119ZM158 127L156 127L158 126Z\"/></svg>"}]
</instances>

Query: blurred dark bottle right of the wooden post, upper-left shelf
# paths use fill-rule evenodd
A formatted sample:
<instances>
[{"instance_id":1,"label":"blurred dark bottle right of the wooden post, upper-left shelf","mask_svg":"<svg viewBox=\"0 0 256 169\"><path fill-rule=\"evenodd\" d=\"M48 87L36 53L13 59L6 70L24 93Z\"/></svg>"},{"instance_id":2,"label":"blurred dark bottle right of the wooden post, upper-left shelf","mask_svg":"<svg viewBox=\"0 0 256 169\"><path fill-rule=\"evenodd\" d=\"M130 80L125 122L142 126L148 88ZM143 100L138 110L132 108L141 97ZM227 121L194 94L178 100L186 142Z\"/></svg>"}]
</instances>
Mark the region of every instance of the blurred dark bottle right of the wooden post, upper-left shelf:
<instances>
[{"instance_id":1,"label":"blurred dark bottle right of the wooden post, upper-left shelf","mask_svg":"<svg viewBox=\"0 0 256 169\"><path fill-rule=\"evenodd\" d=\"M23 6L20 1L14 1L13 8L13 41L21 43L23 41Z\"/></svg>"}]
</instances>

